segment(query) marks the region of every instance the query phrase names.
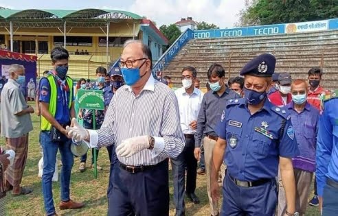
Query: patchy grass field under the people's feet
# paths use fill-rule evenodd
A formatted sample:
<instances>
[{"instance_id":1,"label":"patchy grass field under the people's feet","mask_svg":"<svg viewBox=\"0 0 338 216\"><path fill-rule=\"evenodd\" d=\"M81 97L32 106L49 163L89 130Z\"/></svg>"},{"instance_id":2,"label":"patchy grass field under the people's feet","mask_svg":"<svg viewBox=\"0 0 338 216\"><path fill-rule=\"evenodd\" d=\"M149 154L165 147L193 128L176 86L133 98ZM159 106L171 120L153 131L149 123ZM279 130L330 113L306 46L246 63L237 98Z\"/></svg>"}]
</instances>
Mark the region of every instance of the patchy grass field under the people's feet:
<instances>
[{"instance_id":1,"label":"patchy grass field under the people's feet","mask_svg":"<svg viewBox=\"0 0 338 216\"><path fill-rule=\"evenodd\" d=\"M23 176L22 185L31 187L34 192L30 195L13 197L8 193L6 199L8 202L8 215L45 215L43 208L43 194L41 189L41 179L38 178L38 160L41 158L40 147L38 143L39 136L39 118L32 115L34 131L30 132L30 147L28 152L27 165ZM4 139L1 138L1 145ZM58 155L60 157L60 155ZM91 154L87 157L87 170L83 173L78 171L80 163L79 158L74 159L74 167L71 174L71 198L76 201L84 202L85 208L79 210L58 210L60 202L60 177L59 182L53 183L54 205L58 215L106 215L107 200L106 188L109 179L109 157L106 149L102 149L99 154L98 164L103 167L98 172L98 179L93 178L93 171L90 169ZM58 166L60 171L60 164ZM207 199L207 189L205 176L198 176L196 195L199 196L201 204L192 204L185 200L186 215L210 215L209 201ZM174 204L172 203L172 180L170 180L170 215L174 215ZM312 196L312 193L311 193ZM306 215L319 215L317 207L308 206Z\"/></svg>"}]
</instances>

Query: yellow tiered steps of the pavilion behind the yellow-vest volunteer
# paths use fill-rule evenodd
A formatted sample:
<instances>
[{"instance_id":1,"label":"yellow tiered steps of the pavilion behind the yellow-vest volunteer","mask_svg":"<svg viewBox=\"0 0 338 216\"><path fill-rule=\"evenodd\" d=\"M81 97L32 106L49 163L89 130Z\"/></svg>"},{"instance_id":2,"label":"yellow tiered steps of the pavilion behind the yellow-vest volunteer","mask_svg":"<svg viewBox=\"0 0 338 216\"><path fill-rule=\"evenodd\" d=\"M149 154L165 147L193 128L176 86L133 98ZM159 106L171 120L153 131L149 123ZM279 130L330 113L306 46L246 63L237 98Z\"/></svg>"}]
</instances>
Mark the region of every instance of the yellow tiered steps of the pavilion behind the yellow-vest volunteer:
<instances>
[{"instance_id":1,"label":"yellow tiered steps of the pavilion behind the yellow-vest volunteer","mask_svg":"<svg viewBox=\"0 0 338 216\"><path fill-rule=\"evenodd\" d=\"M110 56L108 56L110 60ZM102 66L107 69L106 56L84 56L84 55L70 55L69 56L69 71L67 75L74 80L80 78L96 79L95 71ZM50 55L38 54L38 61L36 62L38 77L43 75L43 71L52 69ZM108 69L107 69L108 70Z\"/></svg>"}]
</instances>

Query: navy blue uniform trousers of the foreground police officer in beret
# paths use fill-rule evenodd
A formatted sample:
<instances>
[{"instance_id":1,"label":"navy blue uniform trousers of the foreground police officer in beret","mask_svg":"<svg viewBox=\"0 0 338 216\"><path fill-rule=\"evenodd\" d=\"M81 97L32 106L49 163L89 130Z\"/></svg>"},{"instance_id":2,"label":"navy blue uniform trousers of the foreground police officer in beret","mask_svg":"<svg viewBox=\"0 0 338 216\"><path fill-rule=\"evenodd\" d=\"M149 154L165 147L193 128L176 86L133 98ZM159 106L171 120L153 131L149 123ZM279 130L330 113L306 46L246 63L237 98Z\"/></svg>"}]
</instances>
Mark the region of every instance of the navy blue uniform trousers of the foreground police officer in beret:
<instances>
[{"instance_id":1,"label":"navy blue uniform trousers of the foreground police officer in beret","mask_svg":"<svg viewBox=\"0 0 338 216\"><path fill-rule=\"evenodd\" d=\"M256 187L240 187L226 174L223 181L223 216L272 216L277 204L275 179Z\"/></svg>"}]
</instances>

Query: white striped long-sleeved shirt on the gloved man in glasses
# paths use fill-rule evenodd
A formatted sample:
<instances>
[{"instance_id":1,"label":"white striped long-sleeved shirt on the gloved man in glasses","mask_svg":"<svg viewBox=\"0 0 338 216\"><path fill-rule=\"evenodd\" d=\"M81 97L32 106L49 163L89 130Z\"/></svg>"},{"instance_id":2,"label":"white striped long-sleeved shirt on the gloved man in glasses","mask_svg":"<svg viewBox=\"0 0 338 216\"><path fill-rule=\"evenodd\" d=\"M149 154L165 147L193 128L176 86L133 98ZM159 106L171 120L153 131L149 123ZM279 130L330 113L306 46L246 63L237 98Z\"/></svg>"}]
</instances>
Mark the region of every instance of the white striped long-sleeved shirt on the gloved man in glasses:
<instances>
[{"instance_id":1,"label":"white striped long-sleeved shirt on the gloved man in glasses","mask_svg":"<svg viewBox=\"0 0 338 216\"><path fill-rule=\"evenodd\" d=\"M151 75L139 95L130 86L119 88L100 130L89 130L89 134L91 147L120 145L135 136L153 136L152 150L144 149L129 158L117 156L125 165L156 165L179 156L185 145L177 98L168 86Z\"/></svg>"}]
</instances>

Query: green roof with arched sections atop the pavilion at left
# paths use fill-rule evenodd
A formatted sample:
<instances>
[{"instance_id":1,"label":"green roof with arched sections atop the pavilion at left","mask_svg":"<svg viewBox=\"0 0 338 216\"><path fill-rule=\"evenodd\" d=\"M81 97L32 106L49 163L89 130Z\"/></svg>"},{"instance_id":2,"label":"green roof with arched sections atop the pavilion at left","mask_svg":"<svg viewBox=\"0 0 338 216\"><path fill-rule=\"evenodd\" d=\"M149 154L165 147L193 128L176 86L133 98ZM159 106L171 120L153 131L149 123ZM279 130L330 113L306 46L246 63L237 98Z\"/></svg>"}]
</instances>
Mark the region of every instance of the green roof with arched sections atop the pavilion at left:
<instances>
[{"instance_id":1,"label":"green roof with arched sections atop the pavilion at left","mask_svg":"<svg viewBox=\"0 0 338 216\"><path fill-rule=\"evenodd\" d=\"M34 16L36 14L36 17ZM108 16L113 14L113 16ZM82 9L82 10L12 10L0 9L0 19L142 19L142 16L123 10Z\"/></svg>"}]
</instances>

